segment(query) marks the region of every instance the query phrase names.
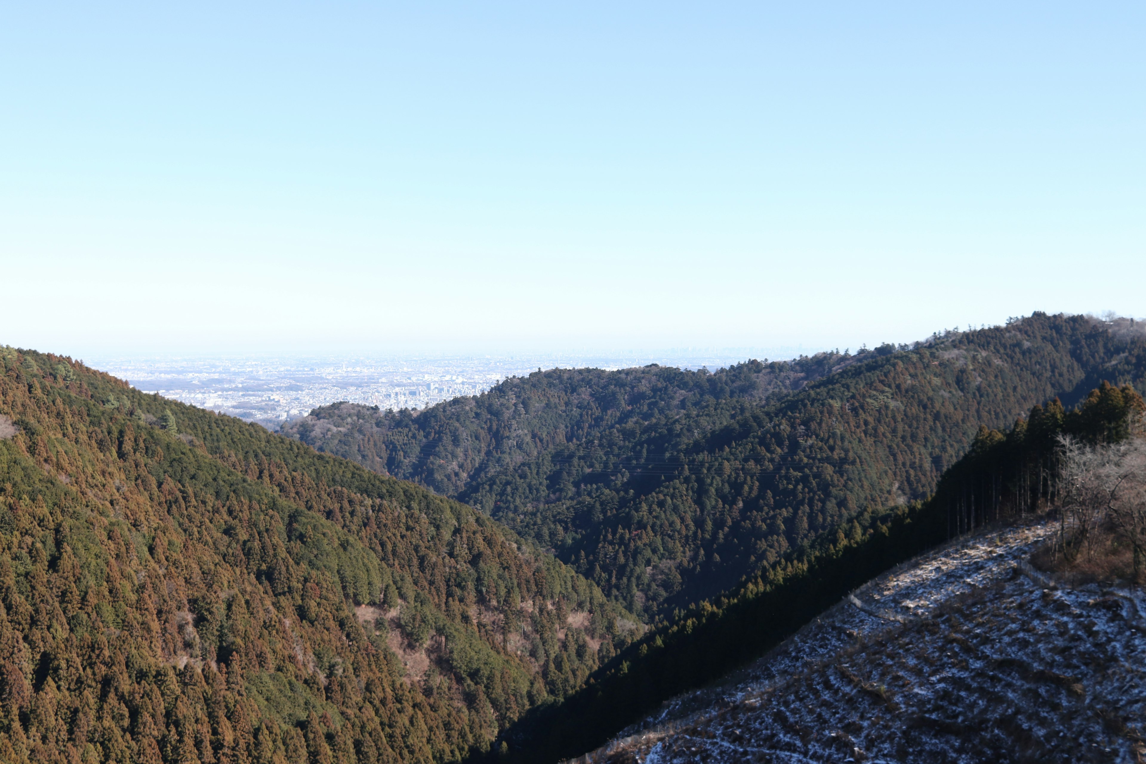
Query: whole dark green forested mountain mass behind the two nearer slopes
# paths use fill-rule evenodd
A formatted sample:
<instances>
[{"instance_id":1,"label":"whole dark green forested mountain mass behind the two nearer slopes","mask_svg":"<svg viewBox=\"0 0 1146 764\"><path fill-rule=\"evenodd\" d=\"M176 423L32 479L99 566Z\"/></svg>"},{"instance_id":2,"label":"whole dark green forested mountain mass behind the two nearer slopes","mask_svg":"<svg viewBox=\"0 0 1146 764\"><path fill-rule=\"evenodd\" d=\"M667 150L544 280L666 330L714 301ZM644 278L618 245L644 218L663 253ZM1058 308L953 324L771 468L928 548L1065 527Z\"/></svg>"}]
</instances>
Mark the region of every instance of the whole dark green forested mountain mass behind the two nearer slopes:
<instances>
[{"instance_id":1,"label":"whole dark green forested mountain mass behind the two nearer slopes","mask_svg":"<svg viewBox=\"0 0 1146 764\"><path fill-rule=\"evenodd\" d=\"M1146 381L1141 324L1036 313L912 346L715 373L539 371L424 411L336 403L284 434L482 510L672 619L863 513L923 499L981 426Z\"/></svg>"}]
</instances>

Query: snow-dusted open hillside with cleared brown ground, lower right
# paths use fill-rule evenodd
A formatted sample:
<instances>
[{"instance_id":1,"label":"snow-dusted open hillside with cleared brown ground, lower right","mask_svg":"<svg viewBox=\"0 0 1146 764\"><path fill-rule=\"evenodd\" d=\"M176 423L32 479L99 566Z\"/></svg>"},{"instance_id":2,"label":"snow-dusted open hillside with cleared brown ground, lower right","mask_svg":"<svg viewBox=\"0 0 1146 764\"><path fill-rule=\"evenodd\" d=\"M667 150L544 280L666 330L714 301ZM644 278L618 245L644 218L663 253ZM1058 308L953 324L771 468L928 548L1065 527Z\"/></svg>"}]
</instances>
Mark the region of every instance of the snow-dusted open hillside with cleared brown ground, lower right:
<instances>
[{"instance_id":1,"label":"snow-dusted open hillside with cleared brown ground, lower right","mask_svg":"<svg viewBox=\"0 0 1146 764\"><path fill-rule=\"evenodd\" d=\"M1146 761L1146 602L1031 569L1053 533L989 533L896 568L574 761Z\"/></svg>"}]
</instances>

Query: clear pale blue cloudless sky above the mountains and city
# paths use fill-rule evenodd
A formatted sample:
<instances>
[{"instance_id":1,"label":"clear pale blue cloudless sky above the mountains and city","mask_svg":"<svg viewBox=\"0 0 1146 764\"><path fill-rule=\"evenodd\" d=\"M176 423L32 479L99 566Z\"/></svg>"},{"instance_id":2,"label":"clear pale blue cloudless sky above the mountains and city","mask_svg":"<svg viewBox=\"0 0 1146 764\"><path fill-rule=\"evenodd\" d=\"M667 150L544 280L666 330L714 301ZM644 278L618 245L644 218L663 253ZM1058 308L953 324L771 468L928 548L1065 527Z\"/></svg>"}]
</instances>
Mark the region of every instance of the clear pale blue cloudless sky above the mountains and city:
<instances>
[{"instance_id":1,"label":"clear pale blue cloudless sky above the mountains and city","mask_svg":"<svg viewBox=\"0 0 1146 764\"><path fill-rule=\"evenodd\" d=\"M11 3L0 342L854 348L1140 316L1144 40L1140 2Z\"/></svg>"}]
</instances>

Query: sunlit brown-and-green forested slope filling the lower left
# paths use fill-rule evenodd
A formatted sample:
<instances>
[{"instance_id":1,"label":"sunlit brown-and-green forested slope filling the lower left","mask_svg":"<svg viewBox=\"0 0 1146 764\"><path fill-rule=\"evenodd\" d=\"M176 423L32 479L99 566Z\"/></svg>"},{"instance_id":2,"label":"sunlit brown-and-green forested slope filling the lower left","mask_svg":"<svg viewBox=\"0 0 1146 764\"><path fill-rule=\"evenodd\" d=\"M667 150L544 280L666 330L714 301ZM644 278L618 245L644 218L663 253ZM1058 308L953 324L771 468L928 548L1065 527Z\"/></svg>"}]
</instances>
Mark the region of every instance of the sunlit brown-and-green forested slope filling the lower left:
<instances>
[{"instance_id":1,"label":"sunlit brown-and-green forested slope filling the lower left","mask_svg":"<svg viewBox=\"0 0 1146 764\"><path fill-rule=\"evenodd\" d=\"M0 759L447 762L635 633L455 501L0 348Z\"/></svg>"}]
</instances>

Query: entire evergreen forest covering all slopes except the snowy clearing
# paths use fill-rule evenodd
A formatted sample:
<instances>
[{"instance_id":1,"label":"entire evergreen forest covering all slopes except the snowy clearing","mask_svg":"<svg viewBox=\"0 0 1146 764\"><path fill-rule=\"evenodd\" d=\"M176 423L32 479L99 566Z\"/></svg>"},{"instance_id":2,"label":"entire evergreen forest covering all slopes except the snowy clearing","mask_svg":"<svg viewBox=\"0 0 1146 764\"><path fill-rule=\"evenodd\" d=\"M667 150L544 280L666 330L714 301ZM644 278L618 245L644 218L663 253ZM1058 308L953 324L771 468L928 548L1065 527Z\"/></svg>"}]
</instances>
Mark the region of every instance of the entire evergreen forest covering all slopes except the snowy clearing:
<instances>
[{"instance_id":1,"label":"entire evergreen forest covering all slopes except the snowy clearing","mask_svg":"<svg viewBox=\"0 0 1146 764\"><path fill-rule=\"evenodd\" d=\"M1141 326L1035 314L336 404L299 442L0 347L0 759L583 753L888 566L1045 506L1055 439L1124 438L1144 370Z\"/></svg>"}]
</instances>

